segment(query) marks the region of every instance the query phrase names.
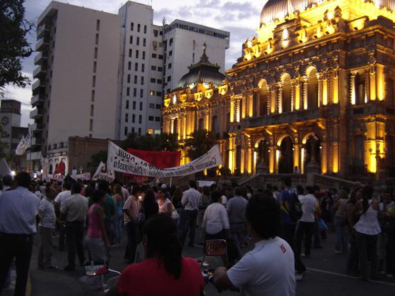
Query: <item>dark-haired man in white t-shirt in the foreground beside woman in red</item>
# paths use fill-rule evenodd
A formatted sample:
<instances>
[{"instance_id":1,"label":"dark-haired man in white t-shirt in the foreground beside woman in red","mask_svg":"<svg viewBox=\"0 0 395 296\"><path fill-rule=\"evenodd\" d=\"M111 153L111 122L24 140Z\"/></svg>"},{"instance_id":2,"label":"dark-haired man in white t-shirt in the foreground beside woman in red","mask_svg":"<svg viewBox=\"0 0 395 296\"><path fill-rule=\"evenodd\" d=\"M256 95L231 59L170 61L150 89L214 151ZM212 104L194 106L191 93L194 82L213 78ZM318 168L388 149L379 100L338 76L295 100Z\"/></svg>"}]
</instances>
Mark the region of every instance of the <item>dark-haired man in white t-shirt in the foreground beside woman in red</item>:
<instances>
[{"instance_id":1,"label":"dark-haired man in white t-shirt in the foreground beside woman in red","mask_svg":"<svg viewBox=\"0 0 395 296\"><path fill-rule=\"evenodd\" d=\"M295 296L293 251L278 237L280 207L273 197L259 194L249 200L246 220L255 247L229 270L217 268L215 287L239 287L242 296Z\"/></svg>"}]
</instances>

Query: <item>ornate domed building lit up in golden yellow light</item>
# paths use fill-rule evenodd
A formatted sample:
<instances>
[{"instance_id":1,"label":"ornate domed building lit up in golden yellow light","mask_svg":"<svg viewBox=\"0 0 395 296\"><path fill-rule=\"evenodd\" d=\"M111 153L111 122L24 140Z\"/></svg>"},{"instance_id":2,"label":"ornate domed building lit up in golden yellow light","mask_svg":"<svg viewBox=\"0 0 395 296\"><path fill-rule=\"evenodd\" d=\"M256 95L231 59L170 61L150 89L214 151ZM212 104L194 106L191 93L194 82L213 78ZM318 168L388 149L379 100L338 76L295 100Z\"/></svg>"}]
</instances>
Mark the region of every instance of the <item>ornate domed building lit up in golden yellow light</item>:
<instances>
[{"instance_id":1,"label":"ornate domed building lit up in golden yellow light","mask_svg":"<svg viewBox=\"0 0 395 296\"><path fill-rule=\"evenodd\" d=\"M394 21L395 0L269 0L227 76L189 67L163 131L215 131L236 174L394 175Z\"/></svg>"}]
</instances>

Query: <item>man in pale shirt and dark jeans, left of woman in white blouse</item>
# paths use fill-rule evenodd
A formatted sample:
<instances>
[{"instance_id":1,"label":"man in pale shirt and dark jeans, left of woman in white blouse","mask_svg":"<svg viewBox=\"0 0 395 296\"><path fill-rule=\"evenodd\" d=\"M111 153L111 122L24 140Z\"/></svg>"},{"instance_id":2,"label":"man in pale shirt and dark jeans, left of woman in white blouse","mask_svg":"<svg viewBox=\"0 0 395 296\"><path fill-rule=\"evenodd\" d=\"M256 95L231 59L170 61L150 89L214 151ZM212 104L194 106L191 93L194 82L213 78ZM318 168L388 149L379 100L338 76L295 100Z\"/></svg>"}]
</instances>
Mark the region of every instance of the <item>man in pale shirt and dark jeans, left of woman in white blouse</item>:
<instances>
[{"instance_id":1,"label":"man in pale shirt and dark jeans, left of woman in white blouse","mask_svg":"<svg viewBox=\"0 0 395 296\"><path fill-rule=\"evenodd\" d=\"M180 221L180 241L184 246L185 238L189 229L189 243L188 246L193 246L195 241L196 219L198 217L198 209L202 203L202 194L196 190L196 181L189 181L189 189L183 193L181 204L183 204L184 211L181 214Z\"/></svg>"}]
</instances>

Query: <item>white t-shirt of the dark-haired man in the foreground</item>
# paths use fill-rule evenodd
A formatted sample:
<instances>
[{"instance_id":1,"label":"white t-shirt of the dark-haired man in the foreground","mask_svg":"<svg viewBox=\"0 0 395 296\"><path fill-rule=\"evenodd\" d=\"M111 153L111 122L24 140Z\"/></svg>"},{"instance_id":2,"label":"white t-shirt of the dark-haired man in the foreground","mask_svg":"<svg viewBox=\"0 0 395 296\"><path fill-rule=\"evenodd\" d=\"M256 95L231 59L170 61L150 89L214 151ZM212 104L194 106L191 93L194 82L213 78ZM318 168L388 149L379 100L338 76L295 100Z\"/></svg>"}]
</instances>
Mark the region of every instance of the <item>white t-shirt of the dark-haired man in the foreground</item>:
<instances>
[{"instance_id":1,"label":"white t-shirt of the dark-haired man in the foreground","mask_svg":"<svg viewBox=\"0 0 395 296\"><path fill-rule=\"evenodd\" d=\"M295 296L295 261L286 241L275 239L255 243L227 276L242 296Z\"/></svg>"}]
</instances>

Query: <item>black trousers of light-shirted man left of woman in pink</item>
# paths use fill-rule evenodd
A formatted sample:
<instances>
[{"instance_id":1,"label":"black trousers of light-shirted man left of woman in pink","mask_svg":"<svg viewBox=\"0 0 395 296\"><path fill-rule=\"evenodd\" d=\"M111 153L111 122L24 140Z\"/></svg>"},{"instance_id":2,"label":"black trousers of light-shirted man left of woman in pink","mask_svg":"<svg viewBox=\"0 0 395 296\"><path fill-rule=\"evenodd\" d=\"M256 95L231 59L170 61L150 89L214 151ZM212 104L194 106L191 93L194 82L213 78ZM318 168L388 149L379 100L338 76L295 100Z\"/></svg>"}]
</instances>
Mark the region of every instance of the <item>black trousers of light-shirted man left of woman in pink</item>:
<instances>
[{"instance_id":1,"label":"black trousers of light-shirted man left of woman in pink","mask_svg":"<svg viewBox=\"0 0 395 296\"><path fill-rule=\"evenodd\" d=\"M84 246L84 221L66 222L66 238L68 251L68 265L75 267L75 253L77 253L80 265L85 262Z\"/></svg>"}]
</instances>

